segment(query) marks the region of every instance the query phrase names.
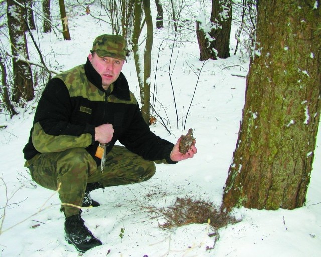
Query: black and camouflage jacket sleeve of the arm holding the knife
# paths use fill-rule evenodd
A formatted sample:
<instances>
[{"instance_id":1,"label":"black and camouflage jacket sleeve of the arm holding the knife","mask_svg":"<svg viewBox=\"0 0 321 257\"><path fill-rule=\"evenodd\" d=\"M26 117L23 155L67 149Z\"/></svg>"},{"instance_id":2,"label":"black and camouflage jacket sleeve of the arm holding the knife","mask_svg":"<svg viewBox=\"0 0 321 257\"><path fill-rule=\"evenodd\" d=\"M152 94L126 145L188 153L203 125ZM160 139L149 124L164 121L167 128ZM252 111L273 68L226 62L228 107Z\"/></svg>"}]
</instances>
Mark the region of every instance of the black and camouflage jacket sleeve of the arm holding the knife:
<instances>
[{"instance_id":1,"label":"black and camouflage jacket sleeve of the arm holding the knife","mask_svg":"<svg viewBox=\"0 0 321 257\"><path fill-rule=\"evenodd\" d=\"M60 79L51 79L38 102L34 118L31 136L37 151L59 152L94 143L94 126L70 123L72 111L65 84Z\"/></svg>"}]
</instances>

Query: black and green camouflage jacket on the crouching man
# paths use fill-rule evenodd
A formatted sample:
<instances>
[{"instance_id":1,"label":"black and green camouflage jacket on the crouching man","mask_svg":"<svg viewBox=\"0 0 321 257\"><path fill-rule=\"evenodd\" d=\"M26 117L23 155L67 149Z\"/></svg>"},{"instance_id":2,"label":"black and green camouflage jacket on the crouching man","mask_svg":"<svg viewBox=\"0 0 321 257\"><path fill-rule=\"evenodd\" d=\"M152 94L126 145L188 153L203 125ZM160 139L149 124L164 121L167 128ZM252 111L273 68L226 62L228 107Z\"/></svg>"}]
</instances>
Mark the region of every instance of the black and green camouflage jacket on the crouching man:
<instances>
[{"instance_id":1,"label":"black and green camouflage jacket on the crouching man","mask_svg":"<svg viewBox=\"0 0 321 257\"><path fill-rule=\"evenodd\" d=\"M107 154L119 140L130 151L151 161L171 161L173 144L156 136L143 120L136 98L130 92L125 76L106 92L101 76L87 59L86 64L63 72L46 85L39 100L29 141L23 149L26 166L38 153L84 147L95 157L98 142L95 127L110 123L114 134Z\"/></svg>"}]
</instances>

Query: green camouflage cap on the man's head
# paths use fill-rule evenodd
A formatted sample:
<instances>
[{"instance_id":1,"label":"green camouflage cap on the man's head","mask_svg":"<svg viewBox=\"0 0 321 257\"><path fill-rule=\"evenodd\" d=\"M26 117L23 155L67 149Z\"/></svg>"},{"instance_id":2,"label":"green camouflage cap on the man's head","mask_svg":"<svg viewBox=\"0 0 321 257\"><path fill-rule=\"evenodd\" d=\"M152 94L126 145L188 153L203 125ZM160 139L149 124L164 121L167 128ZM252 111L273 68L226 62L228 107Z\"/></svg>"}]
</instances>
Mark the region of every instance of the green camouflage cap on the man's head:
<instances>
[{"instance_id":1,"label":"green camouflage cap on the man's head","mask_svg":"<svg viewBox=\"0 0 321 257\"><path fill-rule=\"evenodd\" d=\"M126 60L126 41L120 35L103 34L92 44L91 53L96 52L100 57L112 57Z\"/></svg>"}]
</instances>

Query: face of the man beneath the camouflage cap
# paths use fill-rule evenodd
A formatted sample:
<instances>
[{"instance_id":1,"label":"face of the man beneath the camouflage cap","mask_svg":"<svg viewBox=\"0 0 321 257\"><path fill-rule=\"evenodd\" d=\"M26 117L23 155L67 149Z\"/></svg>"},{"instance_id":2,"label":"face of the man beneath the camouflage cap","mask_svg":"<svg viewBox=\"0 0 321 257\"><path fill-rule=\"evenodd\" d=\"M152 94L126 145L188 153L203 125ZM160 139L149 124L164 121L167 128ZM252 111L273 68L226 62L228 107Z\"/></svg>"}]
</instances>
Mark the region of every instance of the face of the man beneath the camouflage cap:
<instances>
[{"instance_id":1,"label":"face of the man beneath the camouflage cap","mask_svg":"<svg viewBox=\"0 0 321 257\"><path fill-rule=\"evenodd\" d=\"M96 53L89 54L88 59L101 76L102 86L105 90L118 79L125 62L112 57L99 57Z\"/></svg>"}]
</instances>

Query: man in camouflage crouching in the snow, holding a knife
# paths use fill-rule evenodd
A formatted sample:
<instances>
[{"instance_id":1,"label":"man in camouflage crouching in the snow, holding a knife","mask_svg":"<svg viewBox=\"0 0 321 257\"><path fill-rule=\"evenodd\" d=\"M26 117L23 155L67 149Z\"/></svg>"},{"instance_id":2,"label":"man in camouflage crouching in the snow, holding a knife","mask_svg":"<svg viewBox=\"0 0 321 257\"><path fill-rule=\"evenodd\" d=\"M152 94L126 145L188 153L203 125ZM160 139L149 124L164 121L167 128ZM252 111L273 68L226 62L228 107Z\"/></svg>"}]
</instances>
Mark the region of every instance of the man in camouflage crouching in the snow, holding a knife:
<instances>
[{"instance_id":1,"label":"man in camouflage crouching in the snow, holding a knife","mask_svg":"<svg viewBox=\"0 0 321 257\"><path fill-rule=\"evenodd\" d=\"M50 79L39 100L23 149L32 179L57 190L65 214L65 238L78 251L101 245L84 225L81 207L99 206L90 191L148 180L155 162L192 158L152 133L121 70L126 42L100 35L87 62ZM115 142L124 146L117 146Z\"/></svg>"}]
</instances>

